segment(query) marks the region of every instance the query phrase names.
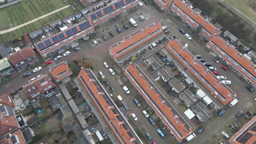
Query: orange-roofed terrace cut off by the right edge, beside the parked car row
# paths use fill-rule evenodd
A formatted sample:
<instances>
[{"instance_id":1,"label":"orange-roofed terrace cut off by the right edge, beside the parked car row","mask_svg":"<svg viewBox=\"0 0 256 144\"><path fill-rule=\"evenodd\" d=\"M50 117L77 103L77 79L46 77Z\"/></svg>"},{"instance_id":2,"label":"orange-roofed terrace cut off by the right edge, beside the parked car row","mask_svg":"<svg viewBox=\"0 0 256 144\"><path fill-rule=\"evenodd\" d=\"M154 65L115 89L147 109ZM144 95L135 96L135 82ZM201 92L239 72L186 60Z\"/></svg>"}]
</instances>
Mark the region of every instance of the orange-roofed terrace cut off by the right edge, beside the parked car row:
<instances>
[{"instance_id":1,"label":"orange-roofed terrace cut off by the right edge, beside the parked car row","mask_svg":"<svg viewBox=\"0 0 256 144\"><path fill-rule=\"evenodd\" d=\"M227 43L217 35L206 45L207 49L216 53L223 62L238 75L242 76L247 83L256 87L256 65L238 52L234 46Z\"/></svg>"}]
</instances>

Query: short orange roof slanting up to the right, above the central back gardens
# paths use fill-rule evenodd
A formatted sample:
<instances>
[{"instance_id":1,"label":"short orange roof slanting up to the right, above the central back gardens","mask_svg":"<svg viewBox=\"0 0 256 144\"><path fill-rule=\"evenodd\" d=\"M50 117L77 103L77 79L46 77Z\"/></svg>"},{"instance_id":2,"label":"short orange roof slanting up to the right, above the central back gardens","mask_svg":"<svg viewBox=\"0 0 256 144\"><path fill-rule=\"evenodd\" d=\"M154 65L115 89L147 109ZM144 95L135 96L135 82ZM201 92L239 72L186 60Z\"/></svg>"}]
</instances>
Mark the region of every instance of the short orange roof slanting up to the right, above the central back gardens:
<instances>
[{"instance_id":1,"label":"short orange roof slanting up to the right, above the central back gardens","mask_svg":"<svg viewBox=\"0 0 256 144\"><path fill-rule=\"evenodd\" d=\"M128 35L127 37L124 38L123 41L120 41L119 43L115 44L109 49L109 53L116 59L120 56L123 56L125 53L135 49L137 46L142 45L143 43L146 43L146 41L156 37L160 33L162 33L161 29L161 22L158 22L156 24L152 24L148 27L146 27L144 30L140 29L131 35ZM153 34L155 33L155 34ZM148 35L153 34L150 38L147 38ZM129 49L127 47L137 43L139 40L142 40L144 38L147 38L146 40L142 41L139 44L136 44ZM127 50L126 50L127 49ZM123 52L124 51L124 52Z\"/></svg>"}]
</instances>

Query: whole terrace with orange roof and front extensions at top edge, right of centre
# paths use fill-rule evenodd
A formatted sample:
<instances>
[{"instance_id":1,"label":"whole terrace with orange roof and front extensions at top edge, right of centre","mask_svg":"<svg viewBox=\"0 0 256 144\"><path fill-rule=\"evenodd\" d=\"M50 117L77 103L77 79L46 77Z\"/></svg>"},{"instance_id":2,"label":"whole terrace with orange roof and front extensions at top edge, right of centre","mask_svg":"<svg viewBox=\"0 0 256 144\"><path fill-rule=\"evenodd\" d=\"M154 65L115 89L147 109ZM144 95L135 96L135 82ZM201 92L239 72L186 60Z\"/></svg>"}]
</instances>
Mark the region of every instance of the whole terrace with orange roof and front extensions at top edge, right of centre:
<instances>
[{"instance_id":1,"label":"whole terrace with orange roof and front extensions at top edge, right of centre","mask_svg":"<svg viewBox=\"0 0 256 144\"><path fill-rule=\"evenodd\" d=\"M218 35L222 32L220 31L222 27L219 25L215 27L211 23L210 17L201 16L201 10L193 9L192 4L188 1L174 0L170 8L172 13L180 17L193 31L201 25L200 35L203 39L210 40L213 35Z\"/></svg>"}]
</instances>

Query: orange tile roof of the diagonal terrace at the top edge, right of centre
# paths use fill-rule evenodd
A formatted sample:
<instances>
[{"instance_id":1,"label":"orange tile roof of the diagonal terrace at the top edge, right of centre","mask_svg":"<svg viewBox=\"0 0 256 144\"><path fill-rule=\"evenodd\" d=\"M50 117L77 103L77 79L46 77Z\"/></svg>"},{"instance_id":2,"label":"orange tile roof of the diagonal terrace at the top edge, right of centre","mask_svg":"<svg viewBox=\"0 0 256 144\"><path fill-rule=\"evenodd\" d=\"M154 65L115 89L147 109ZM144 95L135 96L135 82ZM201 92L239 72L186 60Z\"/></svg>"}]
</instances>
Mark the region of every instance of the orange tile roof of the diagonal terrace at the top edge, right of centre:
<instances>
[{"instance_id":1,"label":"orange tile roof of the diagonal terrace at the top edge, right of centre","mask_svg":"<svg viewBox=\"0 0 256 144\"><path fill-rule=\"evenodd\" d=\"M175 10L179 15L183 15L176 8L174 8L173 5L176 5L176 7L181 9L183 13L187 14L191 19L193 19L196 23L198 23L198 25L201 24L202 27L206 29L206 31L208 31L210 34L214 35L217 33L216 27L214 27L210 22L206 22L206 20L203 19L203 17L200 14L197 14L193 9L185 5L185 3L183 3L181 0L174 0L174 2L171 5L171 8ZM197 28L197 26L193 22L191 22L187 17L183 16L183 18L188 22L190 22L190 24L193 25L195 28ZM204 33L203 31L201 32ZM210 39L210 37L206 33L204 33L204 35L208 39Z\"/></svg>"}]
</instances>

